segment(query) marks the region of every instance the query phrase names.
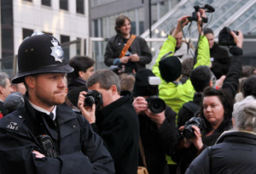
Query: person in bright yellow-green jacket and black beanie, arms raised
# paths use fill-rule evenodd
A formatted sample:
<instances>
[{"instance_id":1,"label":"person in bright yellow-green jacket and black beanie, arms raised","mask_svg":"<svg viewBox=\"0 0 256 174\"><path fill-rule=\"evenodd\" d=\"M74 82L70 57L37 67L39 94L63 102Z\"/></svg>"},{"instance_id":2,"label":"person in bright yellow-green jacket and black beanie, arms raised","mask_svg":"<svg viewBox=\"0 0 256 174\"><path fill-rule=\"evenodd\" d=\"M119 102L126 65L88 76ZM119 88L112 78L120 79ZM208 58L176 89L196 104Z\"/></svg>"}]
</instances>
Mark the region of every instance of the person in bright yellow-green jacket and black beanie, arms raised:
<instances>
[{"instance_id":1,"label":"person in bright yellow-green jacket and black beanie, arms raised","mask_svg":"<svg viewBox=\"0 0 256 174\"><path fill-rule=\"evenodd\" d=\"M194 68L200 65L210 65L210 52L207 37L203 35L201 31L201 16L206 17L205 10L200 9L200 13L197 13L198 31L201 33L199 39L199 48L197 54L197 61ZM166 104L170 106L176 113L183 106L184 103L193 100L195 89L192 86L190 80L181 84L180 79L182 77L182 65L176 56L172 56L175 51L177 33L183 29L184 25L189 23L189 15L181 17L177 20L176 29L172 32L172 36L168 36L166 42L164 42L160 49L160 54L153 66L153 72L155 76L161 78L159 86L159 96L165 100ZM167 55L166 55L167 54ZM164 57L164 58L163 58Z\"/></svg>"}]
</instances>

